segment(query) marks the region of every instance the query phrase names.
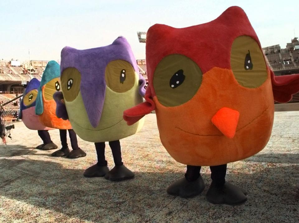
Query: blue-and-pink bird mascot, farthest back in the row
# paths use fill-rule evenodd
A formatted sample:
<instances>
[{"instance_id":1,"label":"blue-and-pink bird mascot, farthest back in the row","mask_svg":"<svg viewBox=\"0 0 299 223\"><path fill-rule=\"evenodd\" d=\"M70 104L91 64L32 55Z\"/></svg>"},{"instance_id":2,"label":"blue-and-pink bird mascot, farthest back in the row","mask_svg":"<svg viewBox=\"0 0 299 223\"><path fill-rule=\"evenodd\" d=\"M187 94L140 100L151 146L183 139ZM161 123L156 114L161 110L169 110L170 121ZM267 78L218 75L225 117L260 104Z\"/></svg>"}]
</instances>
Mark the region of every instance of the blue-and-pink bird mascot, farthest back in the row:
<instances>
[{"instance_id":1,"label":"blue-and-pink bird mascot, farthest back in the row","mask_svg":"<svg viewBox=\"0 0 299 223\"><path fill-rule=\"evenodd\" d=\"M37 149L56 149L57 145L51 141L50 134L48 132L48 130L52 130L53 128L49 128L41 124L38 116L35 114L36 97L39 86L40 81L36 78L31 79L27 84L24 96L20 103L19 118L22 119L28 129L38 131L38 135L43 140L43 144L37 146Z\"/></svg>"}]
</instances>

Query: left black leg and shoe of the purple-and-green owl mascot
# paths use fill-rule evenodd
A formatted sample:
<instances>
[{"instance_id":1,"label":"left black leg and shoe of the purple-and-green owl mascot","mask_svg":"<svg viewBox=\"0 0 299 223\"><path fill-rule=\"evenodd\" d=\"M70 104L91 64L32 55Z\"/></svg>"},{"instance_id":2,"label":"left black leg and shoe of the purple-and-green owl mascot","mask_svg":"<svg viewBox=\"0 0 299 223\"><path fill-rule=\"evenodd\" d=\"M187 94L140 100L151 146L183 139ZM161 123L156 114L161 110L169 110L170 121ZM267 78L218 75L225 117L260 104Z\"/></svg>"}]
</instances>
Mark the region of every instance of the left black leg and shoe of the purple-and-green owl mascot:
<instances>
[{"instance_id":1,"label":"left black leg and shoe of the purple-and-green owl mascot","mask_svg":"<svg viewBox=\"0 0 299 223\"><path fill-rule=\"evenodd\" d=\"M83 175L85 177L103 177L109 172L105 160L105 142L94 143L94 145L97 151L97 163L84 171Z\"/></svg>"}]
</instances>

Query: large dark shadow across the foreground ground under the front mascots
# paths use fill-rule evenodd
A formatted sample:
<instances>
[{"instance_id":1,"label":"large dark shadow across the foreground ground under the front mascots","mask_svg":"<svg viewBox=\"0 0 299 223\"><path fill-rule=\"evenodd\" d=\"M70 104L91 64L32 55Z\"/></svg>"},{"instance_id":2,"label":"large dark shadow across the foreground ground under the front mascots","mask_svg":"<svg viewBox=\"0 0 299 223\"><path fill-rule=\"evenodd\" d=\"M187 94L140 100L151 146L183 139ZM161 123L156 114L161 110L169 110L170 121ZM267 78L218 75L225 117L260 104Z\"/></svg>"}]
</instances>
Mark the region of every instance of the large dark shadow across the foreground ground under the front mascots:
<instances>
[{"instance_id":1,"label":"large dark shadow across the foreground ground under the front mascots","mask_svg":"<svg viewBox=\"0 0 299 223\"><path fill-rule=\"evenodd\" d=\"M183 170L171 173L158 168L157 172L135 172L133 180L111 182L84 178L83 169L24 159L0 160L0 194L68 218L95 222L296 222L299 166L255 166L244 164L244 171L250 169L252 174L227 174L228 181L248 192L248 201L239 206L206 201L209 174L203 174L206 189L202 194L183 199L166 193L169 184L183 177ZM234 170L232 164L228 167L228 172ZM55 222L66 220L58 216Z\"/></svg>"}]
</instances>

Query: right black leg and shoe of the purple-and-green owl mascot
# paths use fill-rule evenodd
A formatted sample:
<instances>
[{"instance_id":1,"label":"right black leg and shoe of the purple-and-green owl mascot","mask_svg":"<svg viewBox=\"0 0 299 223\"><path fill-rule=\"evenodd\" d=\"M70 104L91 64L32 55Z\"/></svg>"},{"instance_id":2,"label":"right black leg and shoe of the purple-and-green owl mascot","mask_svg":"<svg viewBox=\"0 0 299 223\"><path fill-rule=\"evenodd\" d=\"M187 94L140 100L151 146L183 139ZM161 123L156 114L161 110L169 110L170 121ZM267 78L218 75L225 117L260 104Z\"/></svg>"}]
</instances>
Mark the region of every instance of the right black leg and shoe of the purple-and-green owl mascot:
<instances>
[{"instance_id":1,"label":"right black leg and shoe of the purple-and-green owl mascot","mask_svg":"<svg viewBox=\"0 0 299 223\"><path fill-rule=\"evenodd\" d=\"M110 141L115 166L105 175L107 180L128 180L134 178L134 173L130 171L121 161L121 143L119 140Z\"/></svg>"}]
</instances>

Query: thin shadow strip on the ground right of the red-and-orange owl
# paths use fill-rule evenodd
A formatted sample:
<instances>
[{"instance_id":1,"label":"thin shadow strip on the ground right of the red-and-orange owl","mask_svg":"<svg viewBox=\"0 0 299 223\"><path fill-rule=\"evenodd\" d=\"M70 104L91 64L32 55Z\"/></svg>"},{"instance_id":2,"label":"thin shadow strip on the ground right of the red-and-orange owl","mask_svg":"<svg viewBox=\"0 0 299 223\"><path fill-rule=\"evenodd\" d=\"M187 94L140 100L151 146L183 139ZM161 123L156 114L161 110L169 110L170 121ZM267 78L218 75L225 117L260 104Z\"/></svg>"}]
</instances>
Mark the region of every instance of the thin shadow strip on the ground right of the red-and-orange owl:
<instances>
[{"instance_id":1,"label":"thin shadow strip on the ground right of the red-and-orange owl","mask_svg":"<svg viewBox=\"0 0 299 223\"><path fill-rule=\"evenodd\" d=\"M249 162L289 163L299 164L299 154L296 153L258 153L245 159Z\"/></svg>"}]
</instances>

